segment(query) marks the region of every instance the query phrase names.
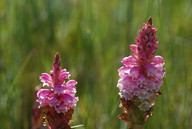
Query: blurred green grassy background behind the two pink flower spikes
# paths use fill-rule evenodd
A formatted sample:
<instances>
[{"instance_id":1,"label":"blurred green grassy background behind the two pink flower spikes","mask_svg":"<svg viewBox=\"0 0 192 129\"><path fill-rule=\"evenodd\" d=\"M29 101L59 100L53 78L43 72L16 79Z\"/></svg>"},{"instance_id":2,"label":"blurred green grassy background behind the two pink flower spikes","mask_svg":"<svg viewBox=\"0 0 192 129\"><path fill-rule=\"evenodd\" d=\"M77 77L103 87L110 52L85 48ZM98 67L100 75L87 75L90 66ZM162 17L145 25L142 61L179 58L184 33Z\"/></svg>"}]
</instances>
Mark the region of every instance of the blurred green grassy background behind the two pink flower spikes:
<instances>
[{"instance_id":1,"label":"blurred green grassy background behind the two pink flower spikes","mask_svg":"<svg viewBox=\"0 0 192 129\"><path fill-rule=\"evenodd\" d=\"M31 128L33 91L58 51L78 81L72 125L125 129L117 70L149 17L167 77L144 128L191 129L191 0L1 0L0 128Z\"/></svg>"}]
</instances>

